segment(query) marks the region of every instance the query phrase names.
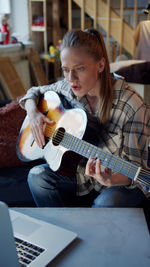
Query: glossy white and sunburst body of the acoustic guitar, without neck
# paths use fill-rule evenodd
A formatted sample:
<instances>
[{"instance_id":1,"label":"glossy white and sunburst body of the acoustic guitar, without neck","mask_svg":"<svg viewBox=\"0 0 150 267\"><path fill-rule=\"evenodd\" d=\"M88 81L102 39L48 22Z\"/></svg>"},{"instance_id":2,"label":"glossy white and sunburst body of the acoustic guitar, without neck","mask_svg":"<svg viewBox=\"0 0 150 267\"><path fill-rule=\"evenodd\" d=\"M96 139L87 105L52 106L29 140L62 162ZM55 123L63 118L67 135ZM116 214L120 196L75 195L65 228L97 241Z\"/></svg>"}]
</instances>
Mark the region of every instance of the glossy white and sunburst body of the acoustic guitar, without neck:
<instances>
[{"instance_id":1,"label":"glossy white and sunburst body of the acoustic guitar, without neck","mask_svg":"<svg viewBox=\"0 0 150 267\"><path fill-rule=\"evenodd\" d=\"M38 109L55 122L54 125L45 125L44 135L48 142L43 149L36 144L32 137L28 116L26 116L17 141L17 154L22 161L43 158L53 171L57 171L61 168L61 162L63 163L62 158L67 158L65 153L69 149L54 143L53 135L57 129L63 128L65 132L82 139L86 130L87 116L80 108L65 109L62 100L53 91L44 94ZM68 165L68 162L65 165Z\"/></svg>"}]
</instances>

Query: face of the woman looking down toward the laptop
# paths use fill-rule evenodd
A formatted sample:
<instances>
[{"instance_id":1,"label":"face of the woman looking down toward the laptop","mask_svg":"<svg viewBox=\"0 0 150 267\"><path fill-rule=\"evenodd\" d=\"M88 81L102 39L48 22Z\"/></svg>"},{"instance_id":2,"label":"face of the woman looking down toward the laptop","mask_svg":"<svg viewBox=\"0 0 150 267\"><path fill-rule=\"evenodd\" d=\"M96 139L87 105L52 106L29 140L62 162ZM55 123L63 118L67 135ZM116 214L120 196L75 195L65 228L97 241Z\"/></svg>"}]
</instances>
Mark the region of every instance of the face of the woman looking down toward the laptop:
<instances>
[{"instance_id":1,"label":"face of the woman looking down toward the laptop","mask_svg":"<svg viewBox=\"0 0 150 267\"><path fill-rule=\"evenodd\" d=\"M99 95L99 72L104 69L104 58L95 61L84 48L64 48L61 51L61 64L64 77L77 97Z\"/></svg>"}]
</instances>

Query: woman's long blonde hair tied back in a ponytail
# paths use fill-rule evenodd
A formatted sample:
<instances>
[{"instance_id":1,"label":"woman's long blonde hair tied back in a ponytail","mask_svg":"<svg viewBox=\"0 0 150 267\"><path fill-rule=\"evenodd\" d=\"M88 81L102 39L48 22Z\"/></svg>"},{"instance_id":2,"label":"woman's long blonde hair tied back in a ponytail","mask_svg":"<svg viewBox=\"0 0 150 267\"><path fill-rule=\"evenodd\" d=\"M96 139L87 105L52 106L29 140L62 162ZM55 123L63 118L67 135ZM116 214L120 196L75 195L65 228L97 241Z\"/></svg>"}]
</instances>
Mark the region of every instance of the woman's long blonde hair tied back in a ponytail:
<instances>
[{"instance_id":1,"label":"woman's long blonde hair tied back in a ponytail","mask_svg":"<svg viewBox=\"0 0 150 267\"><path fill-rule=\"evenodd\" d=\"M86 49L87 54L92 56L95 61L104 57L105 67L100 73L100 106L98 110L100 122L106 124L110 117L110 111L113 101L113 85L110 76L109 60L102 35L95 29L71 30L68 31L62 40L60 51L64 48L81 48Z\"/></svg>"}]
</instances>

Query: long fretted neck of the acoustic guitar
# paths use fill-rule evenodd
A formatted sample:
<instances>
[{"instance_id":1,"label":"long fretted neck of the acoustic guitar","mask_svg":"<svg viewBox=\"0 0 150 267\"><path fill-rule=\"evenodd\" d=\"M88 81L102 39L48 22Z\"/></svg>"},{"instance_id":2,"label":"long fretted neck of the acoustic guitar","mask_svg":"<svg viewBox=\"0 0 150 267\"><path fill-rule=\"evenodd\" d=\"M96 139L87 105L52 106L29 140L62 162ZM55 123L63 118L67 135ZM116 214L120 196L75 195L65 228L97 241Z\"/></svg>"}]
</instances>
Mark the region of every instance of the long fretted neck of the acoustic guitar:
<instances>
[{"instance_id":1,"label":"long fretted neck of the acoustic guitar","mask_svg":"<svg viewBox=\"0 0 150 267\"><path fill-rule=\"evenodd\" d=\"M119 156L113 155L107 151L103 151L101 148L96 147L95 145L79 139L67 132L60 132L56 136L56 144L62 145L68 150L76 152L85 158L99 158L103 166L108 167L114 172L121 173L134 181L140 182L142 185L146 186L146 191L148 190L148 187L150 187L149 171L123 160Z\"/></svg>"}]
</instances>

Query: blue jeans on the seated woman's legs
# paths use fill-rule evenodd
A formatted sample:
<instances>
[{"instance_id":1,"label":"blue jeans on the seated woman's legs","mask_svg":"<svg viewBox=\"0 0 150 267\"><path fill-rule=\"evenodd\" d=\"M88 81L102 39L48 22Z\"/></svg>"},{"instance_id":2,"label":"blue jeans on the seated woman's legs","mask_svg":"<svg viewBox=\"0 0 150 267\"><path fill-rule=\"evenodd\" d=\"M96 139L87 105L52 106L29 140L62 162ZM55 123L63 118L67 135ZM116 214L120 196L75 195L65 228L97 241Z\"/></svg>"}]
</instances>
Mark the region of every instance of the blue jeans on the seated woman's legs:
<instances>
[{"instance_id":1,"label":"blue jeans on the seated woman's legs","mask_svg":"<svg viewBox=\"0 0 150 267\"><path fill-rule=\"evenodd\" d=\"M32 168L28 184L38 207L138 207L146 199L140 189L124 186L109 187L102 193L93 189L87 195L77 196L76 177L53 172L48 164Z\"/></svg>"}]
</instances>

